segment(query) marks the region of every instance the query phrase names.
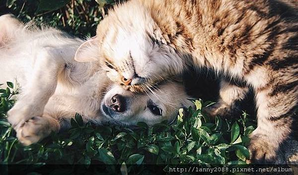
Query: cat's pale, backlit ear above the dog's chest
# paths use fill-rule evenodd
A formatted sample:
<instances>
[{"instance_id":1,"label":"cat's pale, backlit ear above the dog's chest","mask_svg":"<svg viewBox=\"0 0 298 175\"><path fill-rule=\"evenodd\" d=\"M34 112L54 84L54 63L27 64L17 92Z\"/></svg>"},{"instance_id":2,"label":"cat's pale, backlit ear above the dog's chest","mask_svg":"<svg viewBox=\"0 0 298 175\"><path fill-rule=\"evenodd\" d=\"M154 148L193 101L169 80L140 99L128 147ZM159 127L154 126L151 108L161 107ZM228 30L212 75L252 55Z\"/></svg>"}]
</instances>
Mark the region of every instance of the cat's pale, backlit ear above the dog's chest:
<instances>
[{"instance_id":1,"label":"cat's pale, backlit ear above the dog's chest","mask_svg":"<svg viewBox=\"0 0 298 175\"><path fill-rule=\"evenodd\" d=\"M95 39L96 36L81 44L75 52L74 60L78 62L90 62L98 60L99 46Z\"/></svg>"}]
</instances>

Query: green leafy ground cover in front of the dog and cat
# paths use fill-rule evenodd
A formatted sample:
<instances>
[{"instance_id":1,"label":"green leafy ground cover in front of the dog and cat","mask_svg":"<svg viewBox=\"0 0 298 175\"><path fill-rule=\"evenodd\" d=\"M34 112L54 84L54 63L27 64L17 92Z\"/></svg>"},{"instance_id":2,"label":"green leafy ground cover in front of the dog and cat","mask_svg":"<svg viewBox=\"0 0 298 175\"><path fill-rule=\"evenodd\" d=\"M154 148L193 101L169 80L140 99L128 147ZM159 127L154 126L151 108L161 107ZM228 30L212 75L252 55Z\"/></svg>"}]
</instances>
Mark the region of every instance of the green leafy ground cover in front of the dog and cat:
<instances>
[{"instance_id":1,"label":"green leafy ground cover in front of the dog and cat","mask_svg":"<svg viewBox=\"0 0 298 175\"><path fill-rule=\"evenodd\" d=\"M6 119L16 94L12 83L0 89L0 164L200 164L229 166L245 164L246 148L254 123L243 115L237 120L202 114L206 103L196 100L196 109L179 110L177 121L148 126L140 122L132 130L123 126L94 126L80 115L72 127L30 146L22 146ZM115 165L115 166L116 166ZM113 171L120 171L115 167Z\"/></svg>"}]
</instances>

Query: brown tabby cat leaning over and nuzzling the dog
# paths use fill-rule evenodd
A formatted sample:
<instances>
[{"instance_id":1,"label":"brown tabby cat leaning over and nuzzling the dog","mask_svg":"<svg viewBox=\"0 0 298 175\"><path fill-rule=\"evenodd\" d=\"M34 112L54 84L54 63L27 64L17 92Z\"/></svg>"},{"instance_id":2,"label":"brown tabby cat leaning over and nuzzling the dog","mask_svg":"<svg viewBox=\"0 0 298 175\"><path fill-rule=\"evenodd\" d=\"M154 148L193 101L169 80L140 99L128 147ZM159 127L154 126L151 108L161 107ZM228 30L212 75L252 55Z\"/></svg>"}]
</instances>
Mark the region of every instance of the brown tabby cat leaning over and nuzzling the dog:
<instances>
[{"instance_id":1,"label":"brown tabby cat leaning over and nuzzling the dog","mask_svg":"<svg viewBox=\"0 0 298 175\"><path fill-rule=\"evenodd\" d=\"M130 0L109 11L88 41L92 47L82 45L75 59L100 61L111 80L132 91L190 66L213 69L225 78L211 115L224 116L251 87L258 117L251 160L272 163L297 118L297 6L296 0Z\"/></svg>"}]
</instances>

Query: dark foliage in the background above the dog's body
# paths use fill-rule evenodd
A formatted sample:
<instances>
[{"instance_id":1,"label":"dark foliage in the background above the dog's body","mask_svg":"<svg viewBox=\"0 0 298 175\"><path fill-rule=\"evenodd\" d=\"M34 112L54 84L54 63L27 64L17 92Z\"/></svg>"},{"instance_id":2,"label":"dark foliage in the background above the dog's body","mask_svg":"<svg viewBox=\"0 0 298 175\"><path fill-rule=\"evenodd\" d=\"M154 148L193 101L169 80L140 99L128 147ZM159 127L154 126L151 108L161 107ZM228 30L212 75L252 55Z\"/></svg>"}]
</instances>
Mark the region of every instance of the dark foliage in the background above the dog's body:
<instances>
[{"instance_id":1,"label":"dark foliage in the background above the dog's body","mask_svg":"<svg viewBox=\"0 0 298 175\"><path fill-rule=\"evenodd\" d=\"M84 38L95 35L108 8L119 1L123 0L0 0L0 11L12 13L23 22L34 20Z\"/></svg>"}]
</instances>

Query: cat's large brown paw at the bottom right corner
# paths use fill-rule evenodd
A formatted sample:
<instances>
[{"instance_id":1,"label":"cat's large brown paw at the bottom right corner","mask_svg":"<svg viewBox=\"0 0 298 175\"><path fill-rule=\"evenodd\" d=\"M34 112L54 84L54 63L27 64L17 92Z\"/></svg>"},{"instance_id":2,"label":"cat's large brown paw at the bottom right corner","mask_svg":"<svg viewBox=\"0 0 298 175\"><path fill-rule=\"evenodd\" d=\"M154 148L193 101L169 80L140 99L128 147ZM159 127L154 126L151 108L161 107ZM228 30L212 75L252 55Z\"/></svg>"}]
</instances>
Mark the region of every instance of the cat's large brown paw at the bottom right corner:
<instances>
[{"instance_id":1,"label":"cat's large brown paw at the bottom right corner","mask_svg":"<svg viewBox=\"0 0 298 175\"><path fill-rule=\"evenodd\" d=\"M250 161L253 164L274 164L277 159L278 146L265 137L253 134L248 147Z\"/></svg>"}]
</instances>

